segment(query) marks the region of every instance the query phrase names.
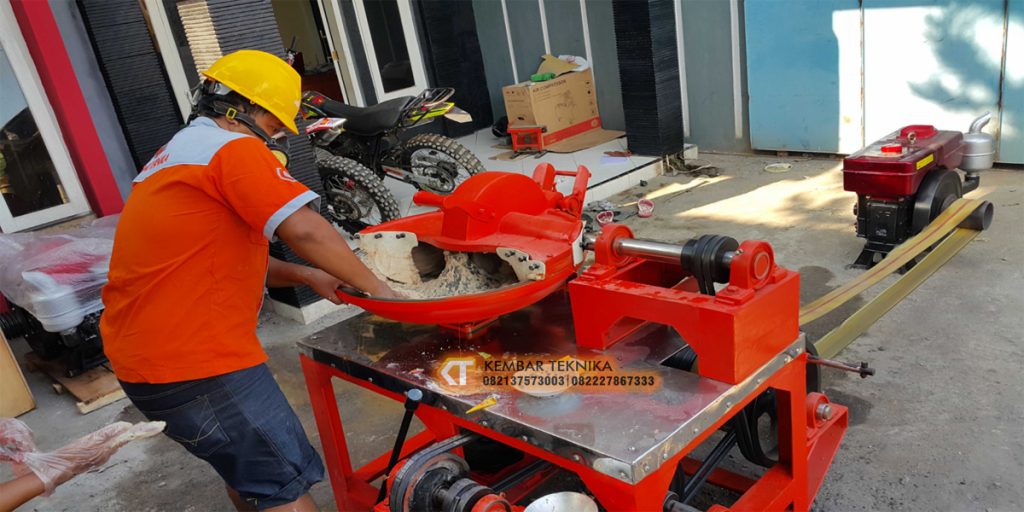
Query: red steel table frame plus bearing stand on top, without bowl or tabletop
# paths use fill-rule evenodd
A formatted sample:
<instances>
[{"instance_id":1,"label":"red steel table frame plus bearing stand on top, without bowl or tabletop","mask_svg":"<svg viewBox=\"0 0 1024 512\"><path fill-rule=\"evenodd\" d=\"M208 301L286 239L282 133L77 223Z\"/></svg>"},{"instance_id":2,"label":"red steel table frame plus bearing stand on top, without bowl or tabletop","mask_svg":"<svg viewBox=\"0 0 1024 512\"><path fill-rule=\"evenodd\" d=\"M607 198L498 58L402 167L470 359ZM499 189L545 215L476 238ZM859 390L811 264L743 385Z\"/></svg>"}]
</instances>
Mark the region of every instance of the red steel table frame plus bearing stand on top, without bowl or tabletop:
<instances>
[{"instance_id":1,"label":"red steel table frame plus bearing stand on top, without bowl or tabletop","mask_svg":"<svg viewBox=\"0 0 1024 512\"><path fill-rule=\"evenodd\" d=\"M711 510L808 510L846 432L847 410L824 407L827 398L823 394L807 393L807 353L798 342L803 339L799 328L799 274L776 265L771 247L765 242L732 241L729 247L733 250L728 251L720 243L722 239L701 238L702 242L691 241L695 242L692 246L679 246L678 260L670 262L665 258L637 257L638 252L630 256L625 249L620 252L624 244L635 241L633 233L626 226L606 225L593 243L594 264L568 285L578 345L604 349L645 323L671 326L697 354L697 373L702 378L742 389L735 398L729 398L732 401L724 402L726 411L711 425L694 431L682 451L663 460L643 479L636 483L620 480L493 430L486 421L477 423L427 403L416 409L426 430L406 441L400 457L463 431L474 432L528 456L509 470L537 460L547 461L578 475L607 510L662 511L677 467L682 465L684 471L695 472L701 463L688 455L772 388L778 462L757 480L716 469L708 481L740 493L741 497L730 508L715 505ZM706 271L712 269L715 272ZM711 293L693 291L694 285L707 288L707 281L697 280L708 279L727 279L728 286ZM301 356L301 362L338 509L387 512L386 501L378 503L378 488L371 482L387 470L391 452L361 468L352 468L332 377L396 401L404 401L404 396L306 355ZM470 475L485 483L485 475ZM544 478L535 476L508 489L508 503L526 497ZM494 509L477 504L471 512L484 510Z\"/></svg>"}]
</instances>

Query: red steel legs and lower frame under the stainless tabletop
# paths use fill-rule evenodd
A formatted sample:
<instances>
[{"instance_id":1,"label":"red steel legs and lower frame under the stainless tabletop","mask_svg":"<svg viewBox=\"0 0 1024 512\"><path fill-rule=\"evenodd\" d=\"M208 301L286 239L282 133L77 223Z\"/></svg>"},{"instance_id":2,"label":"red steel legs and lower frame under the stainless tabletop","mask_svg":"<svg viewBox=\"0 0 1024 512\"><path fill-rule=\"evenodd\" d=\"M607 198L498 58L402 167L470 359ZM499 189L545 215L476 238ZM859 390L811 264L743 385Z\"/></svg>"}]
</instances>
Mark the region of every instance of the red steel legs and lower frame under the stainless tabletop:
<instances>
[{"instance_id":1,"label":"red steel legs and lower frame under the stainless tabletop","mask_svg":"<svg viewBox=\"0 0 1024 512\"><path fill-rule=\"evenodd\" d=\"M779 463L758 480L723 469L715 470L709 478L711 483L741 493L742 496L731 507L716 505L710 510L808 510L839 450L848 417L846 408L837 404L830 404L830 418L819 417L819 406L827 402L827 399L820 393L806 392L806 353L801 353L787 362L754 392L738 400L728 414L723 415L683 451L635 485L427 404L420 406L416 413L427 429L406 441L401 457L455 436L463 429L520 450L535 460L542 459L575 473L597 501L608 510L660 511L677 465L682 462L688 473L695 471L699 461L690 459L687 455L722 427L732 415L770 387L776 390L778 400ZM352 467L332 378L346 380L399 402L404 397L306 355L301 355L300 359L338 510L374 510L378 505L378 488L371 482L384 474L391 452L384 452L360 468ZM804 425L806 428L801 428ZM538 483L526 482L529 488L517 489L516 495L521 498ZM510 495L508 498L512 501L516 497Z\"/></svg>"}]
</instances>

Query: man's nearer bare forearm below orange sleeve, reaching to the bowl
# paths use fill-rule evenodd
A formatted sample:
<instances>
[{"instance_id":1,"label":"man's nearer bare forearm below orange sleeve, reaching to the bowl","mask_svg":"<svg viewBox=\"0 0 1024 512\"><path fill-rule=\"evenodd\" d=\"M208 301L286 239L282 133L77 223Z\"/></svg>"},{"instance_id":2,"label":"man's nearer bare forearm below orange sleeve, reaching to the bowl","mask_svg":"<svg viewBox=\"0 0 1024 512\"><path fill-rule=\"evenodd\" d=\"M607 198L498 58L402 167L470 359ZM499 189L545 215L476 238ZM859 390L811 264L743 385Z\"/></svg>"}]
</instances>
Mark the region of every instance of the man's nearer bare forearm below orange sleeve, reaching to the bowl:
<instances>
[{"instance_id":1,"label":"man's nearer bare forearm below orange sleeve, reaching to the bowl","mask_svg":"<svg viewBox=\"0 0 1024 512\"><path fill-rule=\"evenodd\" d=\"M299 208L278 226L276 234L296 254L341 282L348 283L374 297L397 297L387 284L377 279L367 268L367 265L364 265L362 261L352 253L345 239L335 230L327 219L321 217L313 210ZM282 280L290 279L288 278L290 272L292 270L282 268L280 278ZM275 283L284 283L286 286L290 284L284 281ZM267 286L274 285L271 285L268 280Z\"/></svg>"}]
</instances>

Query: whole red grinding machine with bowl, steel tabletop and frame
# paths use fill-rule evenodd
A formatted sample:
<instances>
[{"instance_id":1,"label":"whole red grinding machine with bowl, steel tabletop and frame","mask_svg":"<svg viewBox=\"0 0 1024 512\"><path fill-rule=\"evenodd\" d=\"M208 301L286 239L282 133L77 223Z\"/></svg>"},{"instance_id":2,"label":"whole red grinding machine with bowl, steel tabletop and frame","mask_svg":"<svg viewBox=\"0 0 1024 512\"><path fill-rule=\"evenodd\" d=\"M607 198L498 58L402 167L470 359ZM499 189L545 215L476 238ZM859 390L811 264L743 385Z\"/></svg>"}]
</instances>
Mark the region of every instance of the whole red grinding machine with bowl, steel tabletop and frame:
<instances>
[{"instance_id":1,"label":"whole red grinding machine with bowl, steel tabletop and frame","mask_svg":"<svg viewBox=\"0 0 1024 512\"><path fill-rule=\"evenodd\" d=\"M555 178L571 175L563 196ZM488 255L518 285L424 301L341 292L369 312L299 342L338 509L682 512L713 484L738 499L708 510L808 510L848 416L808 384L799 274L760 241L584 233L583 167L511 176L421 195L439 210L361 240ZM577 275L584 250L593 264ZM521 372L473 381L499 360L605 367L550 393L516 385ZM334 378L404 403L394 447L358 468ZM414 416L425 428L409 435ZM720 467L733 447L757 476Z\"/></svg>"}]
</instances>

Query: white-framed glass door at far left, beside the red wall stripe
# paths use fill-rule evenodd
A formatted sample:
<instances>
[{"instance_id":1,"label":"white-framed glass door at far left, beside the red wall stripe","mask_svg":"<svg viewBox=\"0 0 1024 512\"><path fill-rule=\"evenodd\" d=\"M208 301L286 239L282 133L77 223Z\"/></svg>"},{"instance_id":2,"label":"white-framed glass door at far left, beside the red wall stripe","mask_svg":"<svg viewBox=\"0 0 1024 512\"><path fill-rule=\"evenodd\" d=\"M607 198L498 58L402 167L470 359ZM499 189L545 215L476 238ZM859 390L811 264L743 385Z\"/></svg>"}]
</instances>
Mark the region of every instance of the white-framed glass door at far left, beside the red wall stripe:
<instances>
[{"instance_id":1,"label":"white-framed glass door at far left, beside the red wall stripe","mask_svg":"<svg viewBox=\"0 0 1024 512\"><path fill-rule=\"evenodd\" d=\"M0 0L0 230L89 212L60 129L14 22Z\"/></svg>"}]
</instances>

